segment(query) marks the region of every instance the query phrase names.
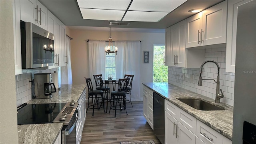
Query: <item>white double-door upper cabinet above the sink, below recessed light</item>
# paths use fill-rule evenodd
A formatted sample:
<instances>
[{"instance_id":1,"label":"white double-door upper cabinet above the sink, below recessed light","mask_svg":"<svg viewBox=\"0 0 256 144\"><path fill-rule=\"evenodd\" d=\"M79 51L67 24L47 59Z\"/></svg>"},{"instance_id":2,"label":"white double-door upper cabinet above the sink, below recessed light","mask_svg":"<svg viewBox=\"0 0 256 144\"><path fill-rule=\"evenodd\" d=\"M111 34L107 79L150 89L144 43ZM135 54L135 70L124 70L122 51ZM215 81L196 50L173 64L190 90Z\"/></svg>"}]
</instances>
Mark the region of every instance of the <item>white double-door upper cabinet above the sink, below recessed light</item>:
<instances>
[{"instance_id":1,"label":"white double-door upper cabinet above the sink, below recessed light","mask_svg":"<svg viewBox=\"0 0 256 144\"><path fill-rule=\"evenodd\" d=\"M227 0L187 18L186 48L226 43Z\"/></svg>"}]
</instances>

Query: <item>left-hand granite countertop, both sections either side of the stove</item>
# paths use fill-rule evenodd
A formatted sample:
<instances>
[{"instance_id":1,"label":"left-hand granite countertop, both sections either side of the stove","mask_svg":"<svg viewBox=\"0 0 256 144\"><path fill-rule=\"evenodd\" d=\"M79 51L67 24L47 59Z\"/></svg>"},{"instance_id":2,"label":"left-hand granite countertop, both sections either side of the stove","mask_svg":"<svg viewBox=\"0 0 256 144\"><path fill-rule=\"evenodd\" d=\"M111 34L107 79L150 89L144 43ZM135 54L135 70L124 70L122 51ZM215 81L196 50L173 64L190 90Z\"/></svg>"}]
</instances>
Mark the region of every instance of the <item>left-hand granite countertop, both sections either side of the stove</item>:
<instances>
[{"instance_id":1,"label":"left-hand granite countertop, both sections either side of the stove","mask_svg":"<svg viewBox=\"0 0 256 144\"><path fill-rule=\"evenodd\" d=\"M80 98L86 84L63 84L61 89L53 93L52 98L32 99L27 104L61 103ZM63 123L22 124L18 125L19 144L53 144L63 127Z\"/></svg>"}]
</instances>

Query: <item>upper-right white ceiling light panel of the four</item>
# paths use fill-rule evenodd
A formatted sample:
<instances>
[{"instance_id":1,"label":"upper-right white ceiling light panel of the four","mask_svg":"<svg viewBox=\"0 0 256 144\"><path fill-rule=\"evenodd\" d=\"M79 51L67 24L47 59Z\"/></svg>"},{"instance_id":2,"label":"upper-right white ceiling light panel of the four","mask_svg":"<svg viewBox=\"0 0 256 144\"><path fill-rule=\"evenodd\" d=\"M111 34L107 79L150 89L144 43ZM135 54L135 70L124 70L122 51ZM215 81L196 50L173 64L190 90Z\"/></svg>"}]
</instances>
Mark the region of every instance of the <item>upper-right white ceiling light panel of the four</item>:
<instances>
[{"instance_id":1,"label":"upper-right white ceiling light panel of the four","mask_svg":"<svg viewBox=\"0 0 256 144\"><path fill-rule=\"evenodd\" d=\"M129 10L171 12L186 0L133 0Z\"/></svg>"}]
</instances>

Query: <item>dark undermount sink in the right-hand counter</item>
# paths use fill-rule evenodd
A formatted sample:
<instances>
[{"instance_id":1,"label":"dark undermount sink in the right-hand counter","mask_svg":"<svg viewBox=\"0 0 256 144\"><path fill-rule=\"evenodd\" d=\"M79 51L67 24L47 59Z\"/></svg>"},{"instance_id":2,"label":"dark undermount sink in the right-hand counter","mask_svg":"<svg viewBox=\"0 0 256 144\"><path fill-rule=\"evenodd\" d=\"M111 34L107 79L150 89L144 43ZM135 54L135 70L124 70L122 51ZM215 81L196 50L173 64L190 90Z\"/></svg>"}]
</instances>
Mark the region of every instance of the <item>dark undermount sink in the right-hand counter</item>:
<instances>
[{"instance_id":1,"label":"dark undermount sink in the right-hand counter","mask_svg":"<svg viewBox=\"0 0 256 144\"><path fill-rule=\"evenodd\" d=\"M200 99L182 99L182 98L177 98L177 99L197 110L225 110L224 108L215 106L213 104L210 104Z\"/></svg>"}]
</instances>

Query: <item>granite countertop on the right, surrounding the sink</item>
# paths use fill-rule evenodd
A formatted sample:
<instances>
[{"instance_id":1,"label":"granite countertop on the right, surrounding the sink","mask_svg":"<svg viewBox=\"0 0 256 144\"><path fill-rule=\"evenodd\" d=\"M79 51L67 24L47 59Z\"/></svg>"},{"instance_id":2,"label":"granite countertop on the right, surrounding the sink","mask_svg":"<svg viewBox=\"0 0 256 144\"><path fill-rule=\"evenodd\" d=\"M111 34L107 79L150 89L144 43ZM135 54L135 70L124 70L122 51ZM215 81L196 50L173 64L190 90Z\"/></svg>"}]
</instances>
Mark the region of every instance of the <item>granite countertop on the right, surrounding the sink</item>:
<instances>
[{"instance_id":1,"label":"granite countertop on the right, surrounding the sink","mask_svg":"<svg viewBox=\"0 0 256 144\"><path fill-rule=\"evenodd\" d=\"M150 88L166 100L172 102L185 112L188 112L196 119L200 120L207 126L216 130L226 138L232 140L232 128L233 128L233 106L220 102L216 104L212 98L202 96L190 90L180 88L173 84L165 82L161 83L143 83L146 87ZM214 105L221 106L225 110L196 110L191 106L177 100L176 98L200 98L206 100Z\"/></svg>"}]
</instances>

